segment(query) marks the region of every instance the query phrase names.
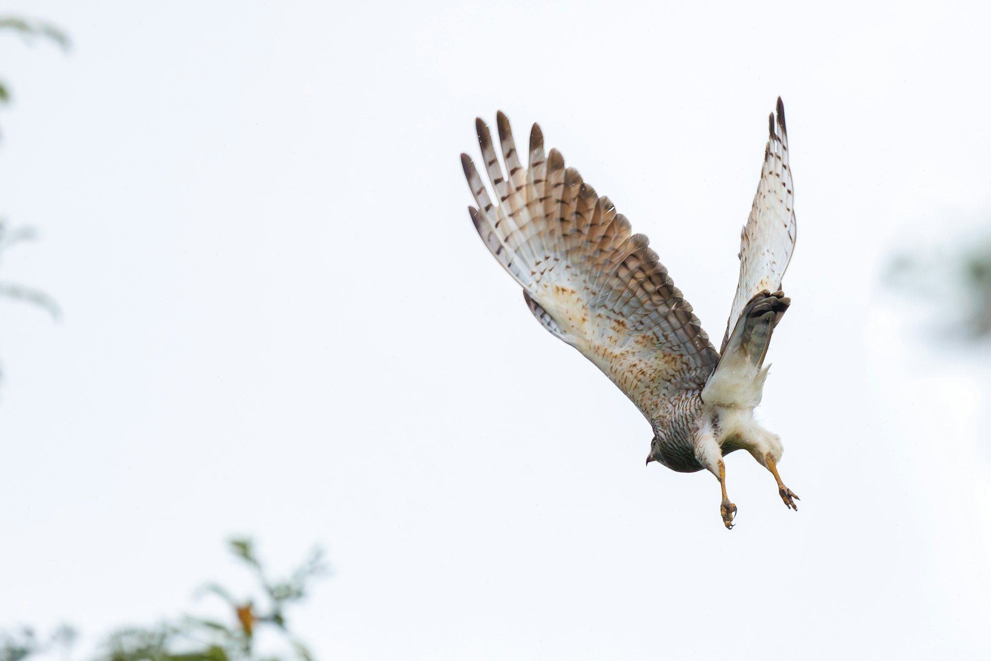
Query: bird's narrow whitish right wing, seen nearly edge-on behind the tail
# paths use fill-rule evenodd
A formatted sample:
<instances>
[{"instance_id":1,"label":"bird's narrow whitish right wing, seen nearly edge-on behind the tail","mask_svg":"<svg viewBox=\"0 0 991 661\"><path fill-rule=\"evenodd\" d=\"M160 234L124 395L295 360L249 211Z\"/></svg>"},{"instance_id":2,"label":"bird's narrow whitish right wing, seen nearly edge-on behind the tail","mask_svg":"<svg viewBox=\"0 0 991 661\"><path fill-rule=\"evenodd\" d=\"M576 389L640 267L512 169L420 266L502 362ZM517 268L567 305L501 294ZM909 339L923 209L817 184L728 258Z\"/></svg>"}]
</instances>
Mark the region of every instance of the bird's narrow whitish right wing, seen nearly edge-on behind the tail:
<instances>
[{"instance_id":1,"label":"bird's narrow whitish right wing, seen nearly edge-on behind the tail","mask_svg":"<svg viewBox=\"0 0 991 661\"><path fill-rule=\"evenodd\" d=\"M778 97L778 131L774 130L774 113L767 118L770 138L764 150L760 183L753 197L750 217L740 233L740 279L729 311L726 332L719 351L725 351L729 334L736 326L743 308L763 290L781 289L781 278L795 250L795 207L792 168L788 166L788 130L785 127L785 104Z\"/></svg>"}]
</instances>

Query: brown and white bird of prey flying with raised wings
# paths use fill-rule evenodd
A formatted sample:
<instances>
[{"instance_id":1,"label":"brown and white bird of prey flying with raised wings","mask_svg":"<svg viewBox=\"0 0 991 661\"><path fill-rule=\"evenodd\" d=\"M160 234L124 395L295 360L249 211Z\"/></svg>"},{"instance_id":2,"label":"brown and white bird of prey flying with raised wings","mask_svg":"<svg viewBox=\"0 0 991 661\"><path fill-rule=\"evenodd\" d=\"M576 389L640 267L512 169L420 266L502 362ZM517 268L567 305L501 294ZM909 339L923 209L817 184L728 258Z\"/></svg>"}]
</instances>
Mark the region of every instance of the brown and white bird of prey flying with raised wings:
<instances>
[{"instance_id":1,"label":"brown and white bird of prey flying with raised wings","mask_svg":"<svg viewBox=\"0 0 991 661\"><path fill-rule=\"evenodd\" d=\"M647 237L606 196L544 153L536 124L529 165L520 163L509 120L496 115L502 164L489 127L476 120L490 196L471 158L461 155L478 208L469 213L495 260L523 288L537 321L578 349L640 409L653 428L647 464L719 481L719 514L733 527L722 457L744 449L774 476L785 505L798 499L778 475L781 439L753 419L768 368L771 334L788 309L781 291L795 249L792 170L785 107L768 118L760 182L740 235L740 275L716 348ZM504 169L503 169L504 167Z\"/></svg>"}]
</instances>

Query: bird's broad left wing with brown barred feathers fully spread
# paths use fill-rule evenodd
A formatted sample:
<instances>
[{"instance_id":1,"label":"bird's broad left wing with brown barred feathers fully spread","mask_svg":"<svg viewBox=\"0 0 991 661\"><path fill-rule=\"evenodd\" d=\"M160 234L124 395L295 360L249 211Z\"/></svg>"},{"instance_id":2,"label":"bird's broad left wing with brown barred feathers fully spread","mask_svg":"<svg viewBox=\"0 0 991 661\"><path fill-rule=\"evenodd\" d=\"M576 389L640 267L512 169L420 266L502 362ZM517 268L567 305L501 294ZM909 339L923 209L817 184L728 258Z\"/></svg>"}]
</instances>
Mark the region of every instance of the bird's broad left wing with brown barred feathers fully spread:
<instances>
[{"instance_id":1,"label":"bird's broad left wing with brown barred feathers fully spread","mask_svg":"<svg viewBox=\"0 0 991 661\"><path fill-rule=\"evenodd\" d=\"M703 386L718 361L647 237L599 197L557 150L544 155L533 125L529 166L509 121L497 115L505 172L489 127L476 120L494 198L471 158L461 155L479 208L472 221L502 268L523 287L530 311L619 386L648 419L675 391Z\"/></svg>"}]
</instances>

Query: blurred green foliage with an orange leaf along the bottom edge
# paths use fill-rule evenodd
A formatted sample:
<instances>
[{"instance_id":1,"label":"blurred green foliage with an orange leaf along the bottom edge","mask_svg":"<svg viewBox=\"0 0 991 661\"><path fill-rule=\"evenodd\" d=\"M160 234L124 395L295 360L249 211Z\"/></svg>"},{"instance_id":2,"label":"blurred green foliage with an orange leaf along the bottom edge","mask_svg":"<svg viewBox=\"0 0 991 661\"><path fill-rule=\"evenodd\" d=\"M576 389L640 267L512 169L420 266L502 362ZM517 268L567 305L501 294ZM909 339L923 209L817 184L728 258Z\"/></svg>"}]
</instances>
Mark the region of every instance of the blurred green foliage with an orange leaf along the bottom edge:
<instances>
[{"instance_id":1,"label":"blurred green foliage with an orange leaf along the bottom edge","mask_svg":"<svg viewBox=\"0 0 991 661\"><path fill-rule=\"evenodd\" d=\"M304 600L314 580L327 574L323 553L315 549L289 576L272 579L265 571L249 539L230 542L233 554L245 564L257 584L255 595L236 598L217 583L208 583L198 595L212 595L226 605L225 619L182 615L173 621L152 626L123 626L107 636L92 661L285 661L296 658L313 661L313 655L289 628L288 606ZM286 645L282 654L259 653L260 633L274 633ZM272 636L268 636L269 639ZM0 630L0 661L23 661L33 656L60 652L68 658L75 631L63 626L49 638L40 640L34 630Z\"/></svg>"}]
</instances>

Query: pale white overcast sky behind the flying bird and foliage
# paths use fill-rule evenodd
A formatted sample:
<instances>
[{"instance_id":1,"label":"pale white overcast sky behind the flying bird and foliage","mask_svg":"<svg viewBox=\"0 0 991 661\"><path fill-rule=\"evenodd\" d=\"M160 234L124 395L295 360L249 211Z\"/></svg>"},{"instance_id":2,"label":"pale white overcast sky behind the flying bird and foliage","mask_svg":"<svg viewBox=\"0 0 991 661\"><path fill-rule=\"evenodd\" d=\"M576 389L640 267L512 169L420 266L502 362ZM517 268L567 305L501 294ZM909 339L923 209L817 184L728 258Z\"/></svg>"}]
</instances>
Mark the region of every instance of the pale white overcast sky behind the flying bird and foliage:
<instances>
[{"instance_id":1,"label":"pale white overcast sky behind the flying bird and foliage","mask_svg":"<svg viewBox=\"0 0 991 661\"><path fill-rule=\"evenodd\" d=\"M991 218L987 5L8 3L0 626L87 634L323 544L322 660L987 658L988 352L896 247ZM799 238L771 476L649 425L530 317L466 208L473 120L539 121L720 336L775 98ZM975 220L976 219L976 220ZM248 583L243 585L246 587ZM205 607L205 605L203 605Z\"/></svg>"}]
</instances>

